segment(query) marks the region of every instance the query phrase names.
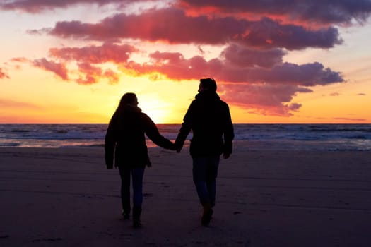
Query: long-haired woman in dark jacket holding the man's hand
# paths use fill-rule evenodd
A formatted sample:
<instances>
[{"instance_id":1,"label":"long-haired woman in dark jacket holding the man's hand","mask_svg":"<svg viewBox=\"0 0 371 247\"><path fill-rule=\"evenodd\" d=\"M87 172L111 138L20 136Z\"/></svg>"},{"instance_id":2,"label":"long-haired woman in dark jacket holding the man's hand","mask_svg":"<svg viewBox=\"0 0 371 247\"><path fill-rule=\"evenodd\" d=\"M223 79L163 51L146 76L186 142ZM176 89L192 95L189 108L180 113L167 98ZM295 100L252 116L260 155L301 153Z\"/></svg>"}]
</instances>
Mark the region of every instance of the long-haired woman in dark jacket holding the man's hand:
<instances>
[{"instance_id":1,"label":"long-haired woman in dark jacket holding the man's hand","mask_svg":"<svg viewBox=\"0 0 371 247\"><path fill-rule=\"evenodd\" d=\"M143 202L143 174L151 167L145 134L153 143L170 150L175 146L158 132L149 116L141 112L134 93L126 93L114 112L105 136L105 163L107 169L119 167L121 176L122 215L129 219L130 179L133 183L133 226L141 227L141 205Z\"/></svg>"}]
</instances>

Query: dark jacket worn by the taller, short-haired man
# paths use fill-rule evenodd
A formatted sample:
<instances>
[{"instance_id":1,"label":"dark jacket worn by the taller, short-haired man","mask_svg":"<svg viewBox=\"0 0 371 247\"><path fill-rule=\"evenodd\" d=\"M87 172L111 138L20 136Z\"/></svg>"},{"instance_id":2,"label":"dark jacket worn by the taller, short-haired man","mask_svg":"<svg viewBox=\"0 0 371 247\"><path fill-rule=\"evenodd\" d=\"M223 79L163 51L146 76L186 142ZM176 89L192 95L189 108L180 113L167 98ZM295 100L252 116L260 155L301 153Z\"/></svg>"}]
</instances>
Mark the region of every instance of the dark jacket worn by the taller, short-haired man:
<instances>
[{"instance_id":1,"label":"dark jacket worn by the taller, short-haired man","mask_svg":"<svg viewBox=\"0 0 371 247\"><path fill-rule=\"evenodd\" d=\"M220 100L216 92L199 92L183 120L175 141L178 150L184 145L184 140L192 130L193 137L189 147L192 157L232 153L232 140L235 135L229 107Z\"/></svg>"}]
</instances>

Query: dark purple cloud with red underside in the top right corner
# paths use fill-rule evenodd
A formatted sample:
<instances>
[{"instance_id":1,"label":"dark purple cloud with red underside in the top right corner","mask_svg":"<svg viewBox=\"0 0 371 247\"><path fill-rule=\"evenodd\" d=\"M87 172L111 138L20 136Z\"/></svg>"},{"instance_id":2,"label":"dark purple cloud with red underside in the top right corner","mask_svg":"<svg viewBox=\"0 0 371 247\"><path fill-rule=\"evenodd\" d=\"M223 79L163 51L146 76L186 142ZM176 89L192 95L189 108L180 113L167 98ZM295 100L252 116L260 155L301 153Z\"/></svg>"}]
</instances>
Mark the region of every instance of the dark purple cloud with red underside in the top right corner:
<instances>
[{"instance_id":1,"label":"dark purple cloud with red underside in the top right corner","mask_svg":"<svg viewBox=\"0 0 371 247\"><path fill-rule=\"evenodd\" d=\"M181 5L195 8L213 9L220 13L252 13L261 16L282 16L288 20L312 23L351 24L352 20L364 22L371 14L370 0L179 0Z\"/></svg>"}]
</instances>

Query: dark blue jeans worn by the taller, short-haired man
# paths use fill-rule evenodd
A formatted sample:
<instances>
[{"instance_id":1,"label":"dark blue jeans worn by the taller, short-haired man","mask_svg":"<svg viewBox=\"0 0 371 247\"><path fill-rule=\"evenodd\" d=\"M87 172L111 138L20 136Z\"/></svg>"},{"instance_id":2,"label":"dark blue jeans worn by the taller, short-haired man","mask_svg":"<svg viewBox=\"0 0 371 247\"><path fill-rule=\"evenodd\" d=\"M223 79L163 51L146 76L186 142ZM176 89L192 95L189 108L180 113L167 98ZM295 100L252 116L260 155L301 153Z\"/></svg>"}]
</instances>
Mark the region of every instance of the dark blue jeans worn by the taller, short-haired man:
<instances>
[{"instance_id":1,"label":"dark blue jeans worn by the taller, short-haired man","mask_svg":"<svg viewBox=\"0 0 371 247\"><path fill-rule=\"evenodd\" d=\"M193 181L202 205L215 205L219 160L219 155L193 158Z\"/></svg>"}]
</instances>

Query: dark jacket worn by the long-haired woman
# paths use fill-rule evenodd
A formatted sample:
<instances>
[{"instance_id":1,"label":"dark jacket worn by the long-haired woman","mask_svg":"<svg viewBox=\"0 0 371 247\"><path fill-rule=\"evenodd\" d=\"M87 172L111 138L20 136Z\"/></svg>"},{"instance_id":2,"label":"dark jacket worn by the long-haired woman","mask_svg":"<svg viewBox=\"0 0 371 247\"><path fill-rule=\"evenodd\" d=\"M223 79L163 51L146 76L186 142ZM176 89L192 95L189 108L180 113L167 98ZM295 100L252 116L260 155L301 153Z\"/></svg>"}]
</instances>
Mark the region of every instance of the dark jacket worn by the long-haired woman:
<instances>
[{"instance_id":1,"label":"dark jacket worn by the long-haired woman","mask_svg":"<svg viewBox=\"0 0 371 247\"><path fill-rule=\"evenodd\" d=\"M146 134L153 143L167 149L174 149L170 140L158 132L158 128L141 109L125 105L114 112L105 135L105 163L115 167L151 166L146 146Z\"/></svg>"}]
</instances>

